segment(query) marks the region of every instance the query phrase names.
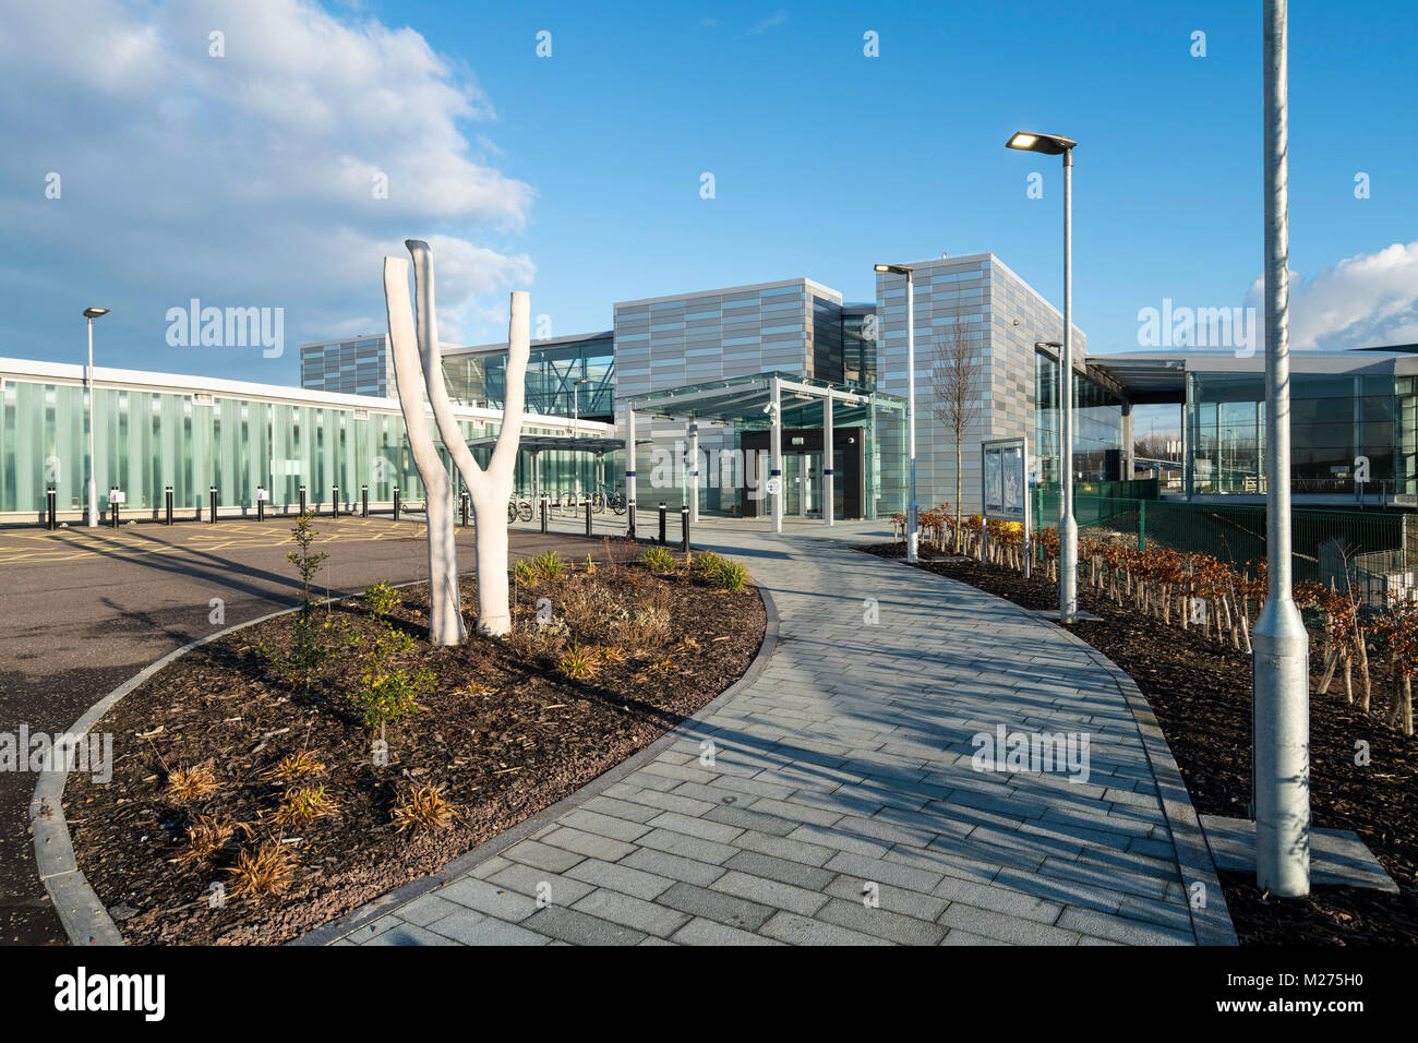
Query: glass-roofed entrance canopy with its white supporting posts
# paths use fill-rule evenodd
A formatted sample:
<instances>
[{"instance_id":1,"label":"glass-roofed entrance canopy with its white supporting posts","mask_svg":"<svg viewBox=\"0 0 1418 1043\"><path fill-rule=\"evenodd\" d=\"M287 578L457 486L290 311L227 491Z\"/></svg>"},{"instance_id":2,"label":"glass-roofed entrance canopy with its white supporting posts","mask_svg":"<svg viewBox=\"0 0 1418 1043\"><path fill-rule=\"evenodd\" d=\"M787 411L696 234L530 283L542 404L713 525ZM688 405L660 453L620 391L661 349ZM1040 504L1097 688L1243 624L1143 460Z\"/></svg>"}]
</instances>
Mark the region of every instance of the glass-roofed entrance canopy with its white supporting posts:
<instances>
[{"instance_id":1,"label":"glass-roofed entrance canopy with its white supporting posts","mask_svg":"<svg viewBox=\"0 0 1418 1043\"><path fill-rule=\"evenodd\" d=\"M820 427L822 431L822 521L834 522L834 475L832 475L832 430L834 427L861 427L869 440L876 430L876 414L881 412L900 414L906 412L905 400L893 394L862 392L848 385L834 385L827 380L770 370L744 376L709 380L705 383L669 387L647 394L637 394L621 402L625 409L627 436L635 437L635 414L689 421L689 519L699 515L699 421L736 426L742 430L769 433L769 480L767 494L773 508L773 531L783 532L783 429ZM859 447L861 448L861 447ZM635 525L635 448L625 454L625 491L630 501L630 524Z\"/></svg>"}]
</instances>

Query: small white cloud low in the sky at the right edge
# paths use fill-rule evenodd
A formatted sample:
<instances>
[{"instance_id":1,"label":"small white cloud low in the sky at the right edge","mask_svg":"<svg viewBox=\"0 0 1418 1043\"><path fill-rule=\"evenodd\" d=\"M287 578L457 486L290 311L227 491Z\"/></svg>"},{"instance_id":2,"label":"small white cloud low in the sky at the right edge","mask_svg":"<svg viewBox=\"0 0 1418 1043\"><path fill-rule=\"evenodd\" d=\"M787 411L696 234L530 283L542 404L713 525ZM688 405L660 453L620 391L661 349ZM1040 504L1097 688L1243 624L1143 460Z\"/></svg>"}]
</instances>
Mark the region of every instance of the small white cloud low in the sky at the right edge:
<instances>
[{"instance_id":1,"label":"small white cloud low in the sky at the right edge","mask_svg":"<svg viewBox=\"0 0 1418 1043\"><path fill-rule=\"evenodd\" d=\"M1246 304L1265 319L1265 278ZM1418 342L1418 241L1356 254L1305 278L1290 271L1290 348L1366 348ZM1263 343L1263 342L1262 342Z\"/></svg>"}]
</instances>

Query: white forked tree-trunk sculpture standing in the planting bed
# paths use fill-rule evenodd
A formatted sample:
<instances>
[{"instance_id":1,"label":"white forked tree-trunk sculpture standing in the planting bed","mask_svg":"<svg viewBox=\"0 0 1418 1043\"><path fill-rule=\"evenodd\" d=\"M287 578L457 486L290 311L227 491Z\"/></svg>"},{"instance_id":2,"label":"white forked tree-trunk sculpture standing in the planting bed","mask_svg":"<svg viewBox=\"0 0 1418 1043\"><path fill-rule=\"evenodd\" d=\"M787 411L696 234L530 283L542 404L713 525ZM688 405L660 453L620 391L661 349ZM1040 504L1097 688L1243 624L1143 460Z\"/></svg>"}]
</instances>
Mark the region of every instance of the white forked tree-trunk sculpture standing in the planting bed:
<instances>
[{"instance_id":1,"label":"white forked tree-trunk sculpture standing in the planting bed","mask_svg":"<svg viewBox=\"0 0 1418 1043\"><path fill-rule=\"evenodd\" d=\"M428 421L423 413L424 394L432 407L434 423L438 434L448 448L454 464L462 474L468 487L468 498L472 502L475 531L475 546L478 556L478 633L501 637L512 630L512 612L508 605L508 497L512 495L512 475L518 460L518 446L522 441L522 406L525 397L527 355L530 352L530 301L525 292L512 294L512 315L508 324L508 375L506 396L502 409L502 430L498 431L498 441L492 450L492 458L486 470L474 460L468 443L464 441L458 421L452 416L448 404L448 390L442 377L442 349L438 343L438 318L434 307L434 268L432 254L428 244L420 240L406 240L404 245L414 258L414 294L418 312L418 355L414 355L413 315L408 308L408 263L393 257L384 258L384 298L389 305L389 335L394 351L394 375L398 380L398 397L404 410L404 420L408 424L410 444L414 446L414 463L424 477L424 484L430 488L428 495L428 573L430 583L434 585L435 559L442 570L437 580L437 589L444 592L442 614L455 620L451 640L432 637L435 644L457 644L462 640L462 619L458 614L458 568L454 546L454 502L452 482L448 473L438 460L432 438L428 434ZM397 275L390 281L390 267L397 268ZM394 285L397 284L397 285ZM398 322L396 322L396 315ZM406 379L404 369L410 370ZM418 369L423 369L423 380L418 380ZM406 399L406 389L413 399ZM413 409L411 409L413 407ZM413 414L417 414L418 424ZM432 471L424 474L420 463L420 447L423 441L424 457L432 457ZM430 477L432 484L430 484ZM434 534L434 485L447 488L447 512L442 501L438 500L440 534ZM440 490L442 495L442 488ZM440 553L447 548L447 558ZM438 614L440 599L432 599L434 616ZM451 613L450 613L451 607ZM430 634L437 630L437 623L430 624Z\"/></svg>"}]
</instances>

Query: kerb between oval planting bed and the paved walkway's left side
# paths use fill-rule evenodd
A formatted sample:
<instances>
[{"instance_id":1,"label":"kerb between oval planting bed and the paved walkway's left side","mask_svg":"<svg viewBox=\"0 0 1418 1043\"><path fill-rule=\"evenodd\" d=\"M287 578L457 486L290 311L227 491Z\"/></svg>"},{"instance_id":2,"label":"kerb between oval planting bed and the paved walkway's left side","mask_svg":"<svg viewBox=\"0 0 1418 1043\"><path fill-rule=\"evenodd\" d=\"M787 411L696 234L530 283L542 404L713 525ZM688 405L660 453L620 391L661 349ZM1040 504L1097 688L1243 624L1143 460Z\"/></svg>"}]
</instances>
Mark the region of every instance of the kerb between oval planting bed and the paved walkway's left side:
<instances>
[{"instance_id":1,"label":"kerb between oval planting bed and the paved walkway's left side","mask_svg":"<svg viewBox=\"0 0 1418 1043\"><path fill-rule=\"evenodd\" d=\"M600 796L603 792L614 786L617 782L624 779L627 775L638 769L641 765L654 761L659 756L661 751L666 746L685 738L686 732L692 728L693 722L702 721L705 717L716 712L720 707L733 700L739 692L744 691L752 685L759 674L767 667L769 660L773 657L773 650L778 640L778 610L773 603L773 596L764 590L761 586L756 587L759 596L763 599L764 612L764 627L763 627L763 643L759 646L757 654L749 664L749 668L743 673L737 681L730 684L722 692L719 692L713 700L700 707L693 715L682 721L681 724L671 728L668 732L661 735L658 739L651 742L644 749L631 754L628 758L621 761L614 768L607 769L601 775L587 782L574 793L562 798L554 805L543 807L540 812L523 819L516 826L503 830L498 836L486 840L471 851L459 854L457 859L450 861L447 866L440 868L437 873L420 877L418 880L410 880L403 887L398 887L389 894L383 894L373 901L353 910L336 921L329 924L322 924L311 931L306 931L299 938L292 938L286 945L329 945L330 942L343 938L345 935L357 931L362 927L379 920L387 912L393 912L401 905L407 905L414 898L428 894L430 891L437 891L438 888L452 883L461 877L468 870L479 866L488 859L505 851L518 843L536 833L542 826L549 822L554 822L564 813L571 812L587 800Z\"/></svg>"}]
</instances>

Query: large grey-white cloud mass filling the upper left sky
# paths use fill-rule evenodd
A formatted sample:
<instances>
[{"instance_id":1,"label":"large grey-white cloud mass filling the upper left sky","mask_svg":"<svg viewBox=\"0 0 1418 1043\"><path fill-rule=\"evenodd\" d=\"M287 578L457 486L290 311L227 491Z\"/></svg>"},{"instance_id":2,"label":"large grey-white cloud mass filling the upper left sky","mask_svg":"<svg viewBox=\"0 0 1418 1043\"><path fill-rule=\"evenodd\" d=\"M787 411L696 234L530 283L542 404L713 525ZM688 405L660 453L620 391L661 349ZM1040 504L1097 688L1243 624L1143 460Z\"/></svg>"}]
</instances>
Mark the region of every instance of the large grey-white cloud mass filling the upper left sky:
<instances>
[{"instance_id":1,"label":"large grey-white cloud mass filling the upper left sky","mask_svg":"<svg viewBox=\"0 0 1418 1043\"><path fill-rule=\"evenodd\" d=\"M62 18L17 4L0 65L0 244L50 288L0 289L30 326L20 342L67 321L75 287L112 302L112 333L143 324L145 345L189 297L284 307L288 336L364 322L350 316L379 328L380 258L407 255L407 237L434 245L445 331L484 332L468 325L535 275L508 245L535 193L488 163L502 156L492 101L411 28L313 0L71 0ZM51 170L60 200L44 196ZM162 351L135 346L132 362L221 369Z\"/></svg>"}]
</instances>

